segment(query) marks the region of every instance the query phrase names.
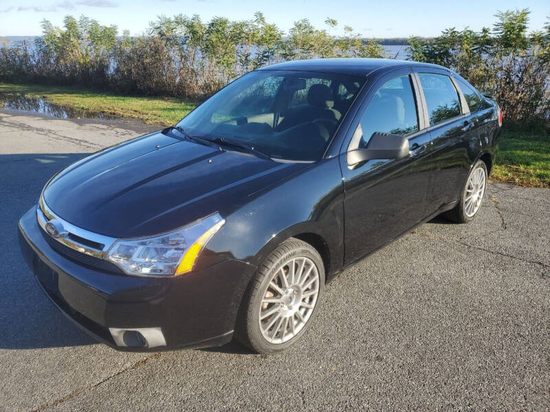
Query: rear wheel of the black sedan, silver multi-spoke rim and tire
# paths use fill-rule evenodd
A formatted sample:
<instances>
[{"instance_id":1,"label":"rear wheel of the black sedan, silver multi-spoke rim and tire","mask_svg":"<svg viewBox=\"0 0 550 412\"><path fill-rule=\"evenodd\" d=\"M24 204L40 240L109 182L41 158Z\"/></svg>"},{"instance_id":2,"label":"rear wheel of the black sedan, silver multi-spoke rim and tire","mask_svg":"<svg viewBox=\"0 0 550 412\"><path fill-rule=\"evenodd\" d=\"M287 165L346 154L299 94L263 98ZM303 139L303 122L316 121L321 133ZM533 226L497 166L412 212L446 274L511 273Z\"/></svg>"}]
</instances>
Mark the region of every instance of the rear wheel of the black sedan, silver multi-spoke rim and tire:
<instances>
[{"instance_id":1,"label":"rear wheel of the black sedan, silver multi-spoke rim and tire","mask_svg":"<svg viewBox=\"0 0 550 412\"><path fill-rule=\"evenodd\" d=\"M481 174L482 172L483 175ZM453 209L446 211L443 216L455 223L469 223L474 220L481 207L481 203L483 203L486 187L487 166L483 160L478 160L474 164L472 170L470 170L470 174L468 174L458 203ZM478 196L476 196L476 201L472 201L475 203L474 207L472 207L471 202L469 203L468 201L468 196L471 194L470 190L473 190L474 194L478 194Z\"/></svg>"}]
</instances>

